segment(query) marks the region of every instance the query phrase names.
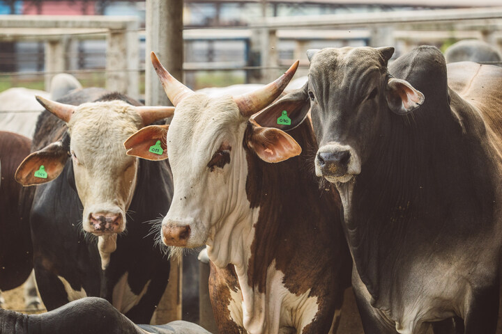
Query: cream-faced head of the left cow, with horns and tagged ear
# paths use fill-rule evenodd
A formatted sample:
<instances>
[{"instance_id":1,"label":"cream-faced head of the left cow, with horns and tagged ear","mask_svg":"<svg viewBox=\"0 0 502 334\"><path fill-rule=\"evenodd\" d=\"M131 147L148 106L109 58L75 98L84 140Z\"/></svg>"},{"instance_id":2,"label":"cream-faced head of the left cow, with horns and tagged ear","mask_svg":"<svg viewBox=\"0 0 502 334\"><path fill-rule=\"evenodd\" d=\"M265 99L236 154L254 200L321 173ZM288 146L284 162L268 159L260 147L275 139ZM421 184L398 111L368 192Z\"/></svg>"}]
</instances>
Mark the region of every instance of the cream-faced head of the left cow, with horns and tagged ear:
<instances>
[{"instance_id":1,"label":"cream-faced head of the left cow, with horns and tagged ear","mask_svg":"<svg viewBox=\"0 0 502 334\"><path fill-rule=\"evenodd\" d=\"M174 108L132 106L121 100L80 106L43 97L37 100L66 122L71 139L69 145L56 142L31 153L17 168L17 182L24 186L50 182L71 157L75 186L84 206L84 230L98 236L123 232L138 164L137 159L126 155L122 143L144 125L172 116ZM40 169L45 175L37 177Z\"/></svg>"}]
</instances>

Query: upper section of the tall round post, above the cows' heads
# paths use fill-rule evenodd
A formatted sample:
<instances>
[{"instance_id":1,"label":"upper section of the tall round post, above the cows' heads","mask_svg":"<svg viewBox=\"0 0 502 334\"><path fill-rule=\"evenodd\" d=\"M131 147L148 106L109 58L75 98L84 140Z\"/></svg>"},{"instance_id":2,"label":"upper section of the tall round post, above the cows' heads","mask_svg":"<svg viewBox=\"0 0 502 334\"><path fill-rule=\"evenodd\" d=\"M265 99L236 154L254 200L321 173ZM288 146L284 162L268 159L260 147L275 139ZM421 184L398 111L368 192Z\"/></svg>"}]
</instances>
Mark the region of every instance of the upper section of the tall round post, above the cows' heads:
<instances>
[{"instance_id":1,"label":"upper section of the tall round post, above the cows' heads","mask_svg":"<svg viewBox=\"0 0 502 334\"><path fill-rule=\"evenodd\" d=\"M150 61L155 51L162 65L183 81L183 1L146 1L145 101L149 105L170 105Z\"/></svg>"}]
</instances>

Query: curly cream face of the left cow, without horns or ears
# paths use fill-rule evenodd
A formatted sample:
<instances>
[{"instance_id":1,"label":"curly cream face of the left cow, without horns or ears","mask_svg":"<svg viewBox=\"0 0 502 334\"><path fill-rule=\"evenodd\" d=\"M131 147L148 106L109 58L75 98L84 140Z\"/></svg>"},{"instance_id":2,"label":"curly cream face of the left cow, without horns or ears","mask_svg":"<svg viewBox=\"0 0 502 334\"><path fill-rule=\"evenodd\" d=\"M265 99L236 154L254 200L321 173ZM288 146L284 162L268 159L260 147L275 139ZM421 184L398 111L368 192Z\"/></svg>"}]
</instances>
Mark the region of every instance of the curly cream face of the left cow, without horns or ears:
<instances>
[{"instance_id":1,"label":"curly cream face of the left cow, without horns or ears","mask_svg":"<svg viewBox=\"0 0 502 334\"><path fill-rule=\"evenodd\" d=\"M68 122L75 184L84 212L82 225L96 235L123 232L135 190L137 158L126 155L123 142L142 127L141 116L126 102L93 102L77 107ZM120 222L96 233L90 221L118 215ZM103 223L104 224L104 223Z\"/></svg>"}]
</instances>

